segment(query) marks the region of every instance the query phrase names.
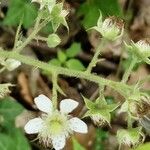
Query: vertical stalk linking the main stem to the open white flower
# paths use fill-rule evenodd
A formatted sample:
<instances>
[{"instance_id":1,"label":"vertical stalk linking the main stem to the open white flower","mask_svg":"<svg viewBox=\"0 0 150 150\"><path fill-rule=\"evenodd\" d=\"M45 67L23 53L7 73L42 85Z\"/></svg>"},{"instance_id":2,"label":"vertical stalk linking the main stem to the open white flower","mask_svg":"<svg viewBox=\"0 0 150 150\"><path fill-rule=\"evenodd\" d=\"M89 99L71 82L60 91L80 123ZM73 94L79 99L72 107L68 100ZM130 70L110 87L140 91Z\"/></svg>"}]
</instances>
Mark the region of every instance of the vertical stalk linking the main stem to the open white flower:
<instances>
[{"instance_id":1,"label":"vertical stalk linking the main stem to the open white flower","mask_svg":"<svg viewBox=\"0 0 150 150\"><path fill-rule=\"evenodd\" d=\"M53 74L52 74L52 82L53 82L52 101L53 101L54 108L57 109L57 74L55 72L53 72Z\"/></svg>"}]
</instances>

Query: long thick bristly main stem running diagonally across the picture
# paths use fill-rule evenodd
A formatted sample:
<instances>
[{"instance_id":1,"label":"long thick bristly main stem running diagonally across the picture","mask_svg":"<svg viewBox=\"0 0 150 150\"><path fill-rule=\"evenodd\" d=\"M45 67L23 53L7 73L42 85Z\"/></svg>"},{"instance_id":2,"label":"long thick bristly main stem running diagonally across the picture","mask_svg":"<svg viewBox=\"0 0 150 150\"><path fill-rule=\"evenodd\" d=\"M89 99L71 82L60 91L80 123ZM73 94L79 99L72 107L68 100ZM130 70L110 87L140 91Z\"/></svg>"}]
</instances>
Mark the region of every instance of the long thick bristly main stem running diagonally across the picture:
<instances>
[{"instance_id":1,"label":"long thick bristly main stem running diagonally across the picture","mask_svg":"<svg viewBox=\"0 0 150 150\"><path fill-rule=\"evenodd\" d=\"M24 64L34 66L34 67L40 68L42 70L46 70L46 71L50 72L51 74L53 74L53 72L55 72L57 75L66 75L66 76L70 76L70 77L83 78L83 79L87 79L89 81L95 82L97 84L100 84L100 85L107 85L107 86L113 88L114 90L118 91L122 95L123 95L122 91L124 93L130 92L130 90L132 88L131 86L126 85L124 83L108 80L108 79L102 78L100 76L97 76L97 75L94 75L94 74L91 74L88 72L53 66L53 65L41 62L39 60L35 60L29 56L23 56L19 53L16 53L15 51L4 51L4 50L0 49L0 56L4 57L4 58L16 59ZM123 96L125 96L125 95L123 95Z\"/></svg>"}]
</instances>

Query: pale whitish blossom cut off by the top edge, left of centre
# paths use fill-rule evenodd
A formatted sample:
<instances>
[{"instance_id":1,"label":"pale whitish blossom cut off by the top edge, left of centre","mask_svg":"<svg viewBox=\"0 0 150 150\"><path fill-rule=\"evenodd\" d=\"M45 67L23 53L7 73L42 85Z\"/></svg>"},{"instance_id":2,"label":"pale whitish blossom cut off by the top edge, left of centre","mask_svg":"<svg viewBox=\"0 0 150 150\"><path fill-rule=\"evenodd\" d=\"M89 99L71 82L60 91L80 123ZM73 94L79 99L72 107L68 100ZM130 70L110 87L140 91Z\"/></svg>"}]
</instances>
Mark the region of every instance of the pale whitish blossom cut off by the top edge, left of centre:
<instances>
[{"instance_id":1,"label":"pale whitish blossom cut off by the top edge, left of centre","mask_svg":"<svg viewBox=\"0 0 150 150\"><path fill-rule=\"evenodd\" d=\"M56 0L32 0L31 2L39 3L40 4L40 9L43 9L43 8L47 7L49 12L52 11L53 7L56 4Z\"/></svg>"}]
</instances>

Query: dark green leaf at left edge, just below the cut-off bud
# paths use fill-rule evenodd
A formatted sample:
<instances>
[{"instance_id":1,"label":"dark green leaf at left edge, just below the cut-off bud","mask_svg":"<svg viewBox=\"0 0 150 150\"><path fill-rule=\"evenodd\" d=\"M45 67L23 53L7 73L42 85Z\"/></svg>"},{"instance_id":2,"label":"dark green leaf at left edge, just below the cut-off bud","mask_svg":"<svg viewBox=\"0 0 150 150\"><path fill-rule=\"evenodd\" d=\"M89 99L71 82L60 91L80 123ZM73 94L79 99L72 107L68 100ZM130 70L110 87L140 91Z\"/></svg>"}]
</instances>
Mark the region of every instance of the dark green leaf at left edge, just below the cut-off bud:
<instances>
[{"instance_id":1,"label":"dark green leaf at left edge, just below the cut-off bud","mask_svg":"<svg viewBox=\"0 0 150 150\"><path fill-rule=\"evenodd\" d=\"M15 102L11 97L1 99L0 101L0 115L4 118L4 124L14 122L15 117L23 111L23 107Z\"/></svg>"}]
</instances>

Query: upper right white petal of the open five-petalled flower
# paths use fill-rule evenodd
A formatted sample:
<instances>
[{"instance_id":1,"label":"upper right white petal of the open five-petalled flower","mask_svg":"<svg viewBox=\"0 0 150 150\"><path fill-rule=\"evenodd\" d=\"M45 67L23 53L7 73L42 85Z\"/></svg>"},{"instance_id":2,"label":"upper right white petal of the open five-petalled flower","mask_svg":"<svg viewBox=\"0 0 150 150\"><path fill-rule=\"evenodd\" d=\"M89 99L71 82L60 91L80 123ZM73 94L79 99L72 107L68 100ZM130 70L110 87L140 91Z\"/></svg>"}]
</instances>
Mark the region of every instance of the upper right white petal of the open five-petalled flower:
<instances>
[{"instance_id":1,"label":"upper right white petal of the open five-petalled flower","mask_svg":"<svg viewBox=\"0 0 150 150\"><path fill-rule=\"evenodd\" d=\"M60 102L60 111L68 114L72 112L78 105L79 103L77 101L72 99L64 99Z\"/></svg>"}]
</instances>

